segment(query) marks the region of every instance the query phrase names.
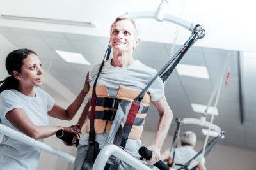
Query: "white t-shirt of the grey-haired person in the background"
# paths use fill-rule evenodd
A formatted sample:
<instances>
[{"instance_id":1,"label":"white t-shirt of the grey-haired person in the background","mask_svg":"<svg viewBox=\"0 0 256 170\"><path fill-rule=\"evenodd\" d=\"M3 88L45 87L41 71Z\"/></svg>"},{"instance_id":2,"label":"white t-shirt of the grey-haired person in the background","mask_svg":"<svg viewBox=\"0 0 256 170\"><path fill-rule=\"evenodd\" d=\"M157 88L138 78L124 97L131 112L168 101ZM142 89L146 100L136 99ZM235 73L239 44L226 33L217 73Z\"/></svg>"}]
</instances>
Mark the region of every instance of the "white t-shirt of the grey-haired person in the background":
<instances>
[{"instance_id":1,"label":"white t-shirt of the grey-haired person in the background","mask_svg":"<svg viewBox=\"0 0 256 170\"><path fill-rule=\"evenodd\" d=\"M174 162L175 164L186 164L189 160L191 160L198 152L193 150L191 146L182 146L175 149ZM200 155L199 155L200 156ZM198 157L199 157L198 156ZM173 158L173 150L170 152L170 157ZM204 157L202 158L204 159ZM179 169L180 166L175 166L175 169Z\"/></svg>"}]
</instances>

